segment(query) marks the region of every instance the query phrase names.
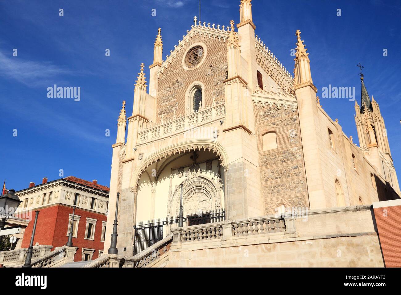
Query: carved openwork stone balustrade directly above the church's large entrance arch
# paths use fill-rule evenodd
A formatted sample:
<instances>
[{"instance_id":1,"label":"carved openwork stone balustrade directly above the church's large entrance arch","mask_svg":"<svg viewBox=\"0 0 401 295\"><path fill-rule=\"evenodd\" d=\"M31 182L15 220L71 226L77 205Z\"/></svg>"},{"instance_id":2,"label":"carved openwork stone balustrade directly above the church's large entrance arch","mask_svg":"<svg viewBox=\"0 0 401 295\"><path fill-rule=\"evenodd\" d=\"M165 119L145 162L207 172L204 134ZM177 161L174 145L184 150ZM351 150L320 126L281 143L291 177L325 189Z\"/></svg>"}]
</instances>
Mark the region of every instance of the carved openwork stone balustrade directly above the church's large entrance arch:
<instances>
[{"instance_id":1,"label":"carved openwork stone balustrade directly above the church's large entrance arch","mask_svg":"<svg viewBox=\"0 0 401 295\"><path fill-rule=\"evenodd\" d=\"M180 116L171 121L160 122L156 126L151 126L146 130L138 132L138 144L150 142L181 132L188 132L196 126L217 121L225 116L224 99L213 101L212 106L201 108L199 112L190 113L187 116Z\"/></svg>"}]
</instances>

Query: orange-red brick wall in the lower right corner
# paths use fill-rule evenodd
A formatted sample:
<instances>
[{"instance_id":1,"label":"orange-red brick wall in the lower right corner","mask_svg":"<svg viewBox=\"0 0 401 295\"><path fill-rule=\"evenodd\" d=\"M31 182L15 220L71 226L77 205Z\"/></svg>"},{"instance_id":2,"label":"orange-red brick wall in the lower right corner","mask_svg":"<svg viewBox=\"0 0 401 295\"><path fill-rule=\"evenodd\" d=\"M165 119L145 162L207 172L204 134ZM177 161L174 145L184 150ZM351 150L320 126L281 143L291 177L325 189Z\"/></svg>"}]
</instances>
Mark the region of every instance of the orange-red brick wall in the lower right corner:
<instances>
[{"instance_id":1,"label":"orange-red brick wall in the lower right corner","mask_svg":"<svg viewBox=\"0 0 401 295\"><path fill-rule=\"evenodd\" d=\"M401 267L401 206L374 208L386 267Z\"/></svg>"}]
</instances>

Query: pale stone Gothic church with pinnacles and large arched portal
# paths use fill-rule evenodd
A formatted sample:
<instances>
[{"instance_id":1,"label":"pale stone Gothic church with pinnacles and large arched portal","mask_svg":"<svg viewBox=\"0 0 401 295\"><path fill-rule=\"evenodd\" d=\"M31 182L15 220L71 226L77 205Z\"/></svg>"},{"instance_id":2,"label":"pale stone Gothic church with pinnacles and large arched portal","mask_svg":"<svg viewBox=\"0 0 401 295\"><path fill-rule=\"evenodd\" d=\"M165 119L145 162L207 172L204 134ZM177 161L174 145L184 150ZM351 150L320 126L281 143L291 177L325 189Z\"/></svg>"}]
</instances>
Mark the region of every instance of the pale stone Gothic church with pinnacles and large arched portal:
<instances>
[{"instance_id":1,"label":"pale stone Gothic church with pinnacles and large arched portal","mask_svg":"<svg viewBox=\"0 0 401 295\"><path fill-rule=\"evenodd\" d=\"M291 75L255 35L251 11L251 0L241 0L236 26L195 17L165 60L159 28L150 77L141 64L132 114L123 102L112 146L109 210L120 193L119 253L132 255L136 224L178 216L181 195L184 216L224 211L226 220L400 198L364 77L357 146L319 103L301 32Z\"/></svg>"}]
</instances>

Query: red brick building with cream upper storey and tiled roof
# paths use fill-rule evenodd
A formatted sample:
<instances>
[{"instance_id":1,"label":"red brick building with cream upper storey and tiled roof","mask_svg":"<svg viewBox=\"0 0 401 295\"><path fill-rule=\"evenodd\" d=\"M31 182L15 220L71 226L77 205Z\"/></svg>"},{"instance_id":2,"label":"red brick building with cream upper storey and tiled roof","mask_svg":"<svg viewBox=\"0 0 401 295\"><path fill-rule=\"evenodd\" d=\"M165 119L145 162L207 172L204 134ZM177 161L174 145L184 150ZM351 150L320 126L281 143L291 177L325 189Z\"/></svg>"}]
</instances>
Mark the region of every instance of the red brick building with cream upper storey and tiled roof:
<instances>
[{"instance_id":1,"label":"red brick building with cream upper storey and tiled roof","mask_svg":"<svg viewBox=\"0 0 401 295\"><path fill-rule=\"evenodd\" d=\"M78 247L74 261L92 260L103 253L109 188L96 180L85 181L69 176L39 185L30 183L16 192L22 203L16 217L29 220L20 248L28 248L34 211L39 210L34 245L63 246L68 240L73 205L75 216L73 245Z\"/></svg>"}]
</instances>

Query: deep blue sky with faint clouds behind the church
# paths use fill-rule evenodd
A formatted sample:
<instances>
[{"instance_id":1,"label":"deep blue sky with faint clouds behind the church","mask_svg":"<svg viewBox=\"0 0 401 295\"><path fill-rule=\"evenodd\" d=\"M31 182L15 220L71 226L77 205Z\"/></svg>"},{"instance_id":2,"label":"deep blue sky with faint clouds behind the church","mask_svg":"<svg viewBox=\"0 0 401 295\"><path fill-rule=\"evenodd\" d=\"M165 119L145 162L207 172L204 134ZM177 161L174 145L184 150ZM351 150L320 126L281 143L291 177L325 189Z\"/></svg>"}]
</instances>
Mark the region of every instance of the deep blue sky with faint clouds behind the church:
<instances>
[{"instance_id":1,"label":"deep blue sky with faint clouds behind the church","mask_svg":"<svg viewBox=\"0 0 401 295\"><path fill-rule=\"evenodd\" d=\"M239 0L202 0L201 21L239 22ZM312 78L322 87L356 87L359 70L379 102L395 167L401 171L400 1L253 0L256 33L292 73L290 55L300 29L310 53ZM63 8L64 16L59 16ZM337 16L337 9L341 16ZM156 9L156 16L152 16ZM140 63L153 62L162 28L166 56L198 15L198 0L1 1L0 2L0 181L24 189L42 177L74 175L109 185L111 144L123 100L133 106ZM18 56L13 57L13 49ZM105 56L110 49L110 56ZM388 56L383 56L387 49ZM81 87L81 100L47 98L53 84ZM354 137L354 102L321 100ZM18 136L13 136L13 130ZM110 136L105 136L105 130Z\"/></svg>"}]
</instances>

